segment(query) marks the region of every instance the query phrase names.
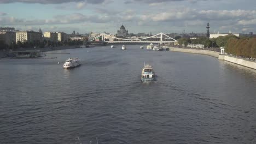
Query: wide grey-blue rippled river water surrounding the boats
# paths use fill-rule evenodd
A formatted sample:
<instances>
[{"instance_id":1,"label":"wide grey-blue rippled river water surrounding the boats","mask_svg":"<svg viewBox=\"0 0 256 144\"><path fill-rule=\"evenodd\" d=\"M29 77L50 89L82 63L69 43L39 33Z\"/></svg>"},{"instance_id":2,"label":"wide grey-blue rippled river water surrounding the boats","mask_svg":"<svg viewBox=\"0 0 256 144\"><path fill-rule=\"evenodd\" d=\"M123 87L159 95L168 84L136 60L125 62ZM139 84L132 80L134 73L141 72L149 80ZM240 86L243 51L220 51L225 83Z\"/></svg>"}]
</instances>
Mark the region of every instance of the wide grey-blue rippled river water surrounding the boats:
<instances>
[{"instance_id":1,"label":"wide grey-blue rippled river water surrounding the boats","mask_svg":"<svg viewBox=\"0 0 256 144\"><path fill-rule=\"evenodd\" d=\"M1 60L0 143L256 143L255 70L126 47ZM63 69L68 57L83 65ZM144 62L155 82L140 81Z\"/></svg>"}]
</instances>

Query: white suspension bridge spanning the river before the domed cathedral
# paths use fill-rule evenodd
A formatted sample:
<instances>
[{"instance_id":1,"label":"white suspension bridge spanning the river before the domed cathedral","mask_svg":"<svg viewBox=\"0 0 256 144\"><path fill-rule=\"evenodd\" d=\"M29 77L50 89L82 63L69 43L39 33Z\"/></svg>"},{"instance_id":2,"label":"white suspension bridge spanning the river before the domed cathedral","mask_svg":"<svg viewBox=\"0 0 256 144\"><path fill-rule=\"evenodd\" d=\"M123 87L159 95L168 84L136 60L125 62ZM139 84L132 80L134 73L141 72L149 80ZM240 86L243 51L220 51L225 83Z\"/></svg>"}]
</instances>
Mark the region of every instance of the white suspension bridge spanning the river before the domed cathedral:
<instances>
[{"instance_id":1,"label":"white suspension bridge spanning the river before the domed cathedral","mask_svg":"<svg viewBox=\"0 0 256 144\"><path fill-rule=\"evenodd\" d=\"M109 44L119 44L119 43L159 43L159 44L168 43L170 44L175 42L177 43L176 39L173 39L164 33L158 33L153 36L145 37L145 38L130 38L130 39L117 38L114 35L101 33L94 38L90 38L90 41L105 42Z\"/></svg>"}]
</instances>

